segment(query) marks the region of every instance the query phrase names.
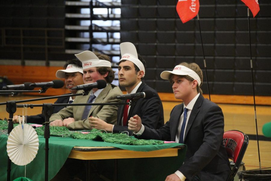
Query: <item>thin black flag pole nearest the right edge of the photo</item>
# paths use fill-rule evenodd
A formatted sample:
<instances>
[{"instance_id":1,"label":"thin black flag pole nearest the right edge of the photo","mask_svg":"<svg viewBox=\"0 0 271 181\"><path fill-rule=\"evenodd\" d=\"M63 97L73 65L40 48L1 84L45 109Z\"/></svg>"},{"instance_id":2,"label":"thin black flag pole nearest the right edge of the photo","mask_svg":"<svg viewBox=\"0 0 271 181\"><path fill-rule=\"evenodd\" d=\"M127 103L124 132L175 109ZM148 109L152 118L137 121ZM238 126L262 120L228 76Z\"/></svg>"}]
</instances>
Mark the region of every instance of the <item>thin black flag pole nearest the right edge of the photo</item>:
<instances>
[{"instance_id":1,"label":"thin black flag pole nearest the right edge of the photo","mask_svg":"<svg viewBox=\"0 0 271 181\"><path fill-rule=\"evenodd\" d=\"M260 148L259 148L259 139L258 139L257 113L256 113L256 103L255 103L255 93L254 93L254 79L253 79L253 66L252 66L252 55L251 55L249 8L248 8L248 34L249 34L249 50L250 50L250 67L251 67L251 76L252 76L252 91L253 91L254 113L255 113L255 122L256 122L256 138L257 138L257 144L258 144L259 165L260 165L260 173L261 173L262 168L261 168Z\"/></svg>"}]
</instances>

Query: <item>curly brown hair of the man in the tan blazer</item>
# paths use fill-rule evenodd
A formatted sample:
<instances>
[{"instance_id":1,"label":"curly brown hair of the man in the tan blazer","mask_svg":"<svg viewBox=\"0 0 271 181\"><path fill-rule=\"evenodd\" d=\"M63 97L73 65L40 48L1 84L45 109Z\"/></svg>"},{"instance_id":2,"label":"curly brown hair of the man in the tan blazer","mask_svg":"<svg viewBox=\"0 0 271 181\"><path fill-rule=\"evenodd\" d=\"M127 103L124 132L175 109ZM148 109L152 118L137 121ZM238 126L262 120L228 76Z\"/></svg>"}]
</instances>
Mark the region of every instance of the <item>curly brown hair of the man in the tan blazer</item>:
<instances>
[{"instance_id":1,"label":"curly brown hair of the man in the tan blazer","mask_svg":"<svg viewBox=\"0 0 271 181\"><path fill-rule=\"evenodd\" d=\"M111 62L111 59L109 56L98 53L98 52L94 52L94 54L98 57L98 59L100 60L107 60L109 62ZM108 72L108 75L105 77L105 81L107 83L112 83L114 78L115 78L115 71L112 70L111 67L96 67L97 71L101 74L104 75Z\"/></svg>"}]
</instances>

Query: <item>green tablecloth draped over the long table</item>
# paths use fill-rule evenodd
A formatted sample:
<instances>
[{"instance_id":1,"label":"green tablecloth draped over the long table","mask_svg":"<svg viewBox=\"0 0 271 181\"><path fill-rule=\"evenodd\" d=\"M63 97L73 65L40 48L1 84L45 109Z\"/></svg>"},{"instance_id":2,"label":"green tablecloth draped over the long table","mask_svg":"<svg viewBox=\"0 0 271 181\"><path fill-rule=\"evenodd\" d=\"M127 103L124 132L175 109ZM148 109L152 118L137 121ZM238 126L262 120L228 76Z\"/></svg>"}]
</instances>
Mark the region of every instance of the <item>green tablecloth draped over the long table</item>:
<instances>
[{"instance_id":1,"label":"green tablecloth draped over the long table","mask_svg":"<svg viewBox=\"0 0 271 181\"><path fill-rule=\"evenodd\" d=\"M7 155L7 139L8 137L6 135L0 136L0 180L6 180L7 177L7 162L8 162L8 155ZM144 145L144 146L135 146L135 145L123 145L123 144L114 144L114 143L107 143L103 141L93 141L93 140L79 140L79 139L73 139L73 138L61 138L61 137L53 137L51 136L49 138L49 173L48 178L49 180L52 179L60 170L60 168L65 163L67 157L70 154L71 149L74 146L89 146L89 147L106 147L106 146L112 146L116 148L126 149L126 150L132 150L132 151L154 151L154 150L160 150L165 148L172 148L179 146L181 144L179 143L167 143L162 145ZM32 180L44 180L45 178L45 139L43 136L39 136L39 151L34 158L34 160L26 165L26 177L32 179ZM155 164L154 166L159 166L160 164L168 164L164 165L168 169L170 169L170 173L174 173L179 166L182 164L183 159L185 157L186 148L179 151L178 157L164 157L160 158L149 158L150 163ZM130 159L119 159L120 165L127 166L126 163L124 163L127 160ZM146 163L147 160L144 160L142 158L140 159L131 159L133 160L132 165L139 166L138 164L143 163L142 167L140 169L143 169L146 167L148 169L148 172L152 171L152 167L147 166ZM143 161L143 162L142 162ZM176 165L172 164L172 162L176 161ZM122 163L123 162L123 163ZM166 162L166 163L165 163ZM167 163L168 162L168 163ZM157 165L158 164L158 165ZM128 165L131 166L130 164ZM171 169L171 167L173 167ZM160 169L159 169L160 170ZM128 171L128 170L127 170ZM133 169L129 169L131 172L136 172L136 170L133 171ZM156 174L160 174L158 170L154 170L155 172L158 172ZM25 172L25 166L18 166L15 164L11 164L11 180L24 176ZM140 172L139 172L140 173ZM124 175L127 174L131 176L133 173L126 172ZM167 173L165 173L167 174ZM122 175L122 176L124 176ZM121 180L121 177L119 177ZM135 177L136 178L136 177ZM165 178L163 178L165 179ZM163 180L162 179L162 180Z\"/></svg>"}]
</instances>

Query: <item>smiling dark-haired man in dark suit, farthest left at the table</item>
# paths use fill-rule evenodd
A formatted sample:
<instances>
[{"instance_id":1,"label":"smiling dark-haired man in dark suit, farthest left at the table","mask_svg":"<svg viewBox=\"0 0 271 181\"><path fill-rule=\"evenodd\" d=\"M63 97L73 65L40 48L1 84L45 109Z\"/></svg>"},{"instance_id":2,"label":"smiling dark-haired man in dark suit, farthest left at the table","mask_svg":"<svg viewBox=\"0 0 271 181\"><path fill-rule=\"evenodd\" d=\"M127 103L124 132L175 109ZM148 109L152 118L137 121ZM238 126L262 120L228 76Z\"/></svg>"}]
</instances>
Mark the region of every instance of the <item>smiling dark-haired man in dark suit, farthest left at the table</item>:
<instances>
[{"instance_id":1,"label":"smiling dark-haired man in dark suit, farthest left at the table","mask_svg":"<svg viewBox=\"0 0 271 181\"><path fill-rule=\"evenodd\" d=\"M65 85L67 89L71 92L69 94L76 94L77 90L72 90L72 87L77 85L84 84L83 82L83 68L82 62L78 59L69 60L64 66L64 70L58 70L56 72L57 78L64 78ZM65 95L65 94L64 94ZM72 103L75 97L60 97L55 101L55 104L67 104ZM58 111L62 110L66 106L55 106L53 110L54 113L58 113ZM26 116L27 122L42 124L45 122L45 116L43 114ZM18 116L15 115L13 117L13 121L18 123Z\"/></svg>"}]
</instances>

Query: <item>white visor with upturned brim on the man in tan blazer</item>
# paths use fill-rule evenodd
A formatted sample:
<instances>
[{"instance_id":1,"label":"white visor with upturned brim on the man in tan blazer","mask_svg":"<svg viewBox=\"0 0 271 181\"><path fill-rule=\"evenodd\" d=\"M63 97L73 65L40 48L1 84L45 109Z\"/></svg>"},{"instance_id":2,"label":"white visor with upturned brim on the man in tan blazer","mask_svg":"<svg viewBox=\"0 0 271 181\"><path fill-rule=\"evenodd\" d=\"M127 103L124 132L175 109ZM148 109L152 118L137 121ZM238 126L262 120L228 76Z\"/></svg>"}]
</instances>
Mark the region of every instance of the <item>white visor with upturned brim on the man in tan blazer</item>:
<instances>
[{"instance_id":1,"label":"white visor with upturned brim on the man in tan blazer","mask_svg":"<svg viewBox=\"0 0 271 181\"><path fill-rule=\"evenodd\" d=\"M83 70L91 67L111 67L111 62L100 60L93 52L88 50L75 54L75 56L82 62Z\"/></svg>"}]
</instances>

